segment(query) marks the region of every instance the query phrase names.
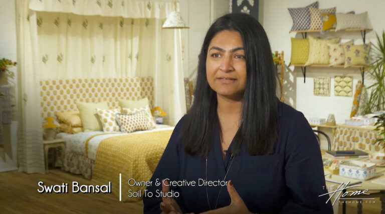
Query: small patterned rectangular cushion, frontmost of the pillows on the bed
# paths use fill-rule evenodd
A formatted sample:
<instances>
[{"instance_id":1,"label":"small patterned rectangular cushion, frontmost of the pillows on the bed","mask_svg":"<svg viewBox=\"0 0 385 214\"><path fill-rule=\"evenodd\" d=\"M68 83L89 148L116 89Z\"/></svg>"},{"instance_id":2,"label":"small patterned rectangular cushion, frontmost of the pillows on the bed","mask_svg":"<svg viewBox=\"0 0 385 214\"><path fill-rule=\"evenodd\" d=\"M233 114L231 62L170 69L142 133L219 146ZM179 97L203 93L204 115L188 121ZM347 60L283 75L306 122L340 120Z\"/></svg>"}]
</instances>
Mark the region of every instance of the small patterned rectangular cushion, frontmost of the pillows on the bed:
<instances>
[{"instance_id":1,"label":"small patterned rectangular cushion, frontmost of the pillows on the bed","mask_svg":"<svg viewBox=\"0 0 385 214\"><path fill-rule=\"evenodd\" d=\"M116 121L120 130L129 133L135 130L150 130L150 123L145 110L139 110L133 114L116 114Z\"/></svg>"}]
</instances>

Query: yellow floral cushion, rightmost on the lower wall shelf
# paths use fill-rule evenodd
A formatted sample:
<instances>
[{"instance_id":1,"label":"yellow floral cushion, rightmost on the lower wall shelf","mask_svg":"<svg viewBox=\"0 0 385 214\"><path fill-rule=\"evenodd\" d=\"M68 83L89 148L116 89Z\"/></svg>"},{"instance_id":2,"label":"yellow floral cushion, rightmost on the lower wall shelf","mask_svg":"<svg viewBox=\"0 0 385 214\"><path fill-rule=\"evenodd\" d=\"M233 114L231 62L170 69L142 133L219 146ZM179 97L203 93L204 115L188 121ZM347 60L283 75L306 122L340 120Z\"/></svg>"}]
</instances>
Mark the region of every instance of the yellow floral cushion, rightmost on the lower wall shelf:
<instances>
[{"instance_id":1,"label":"yellow floral cushion, rightmost on the lower wall shelf","mask_svg":"<svg viewBox=\"0 0 385 214\"><path fill-rule=\"evenodd\" d=\"M369 64L370 43L359 45L345 44L343 49L345 50L344 67Z\"/></svg>"}]
</instances>

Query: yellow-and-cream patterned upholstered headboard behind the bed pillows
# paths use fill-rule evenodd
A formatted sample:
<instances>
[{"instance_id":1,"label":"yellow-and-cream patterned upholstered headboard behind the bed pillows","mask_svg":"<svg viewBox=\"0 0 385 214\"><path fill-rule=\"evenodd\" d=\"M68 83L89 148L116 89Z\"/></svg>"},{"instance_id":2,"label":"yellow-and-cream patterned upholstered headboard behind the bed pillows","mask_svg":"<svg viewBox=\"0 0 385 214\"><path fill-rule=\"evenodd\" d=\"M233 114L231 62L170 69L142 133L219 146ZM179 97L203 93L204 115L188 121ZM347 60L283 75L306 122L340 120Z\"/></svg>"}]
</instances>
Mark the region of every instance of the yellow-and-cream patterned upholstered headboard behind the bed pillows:
<instances>
[{"instance_id":1,"label":"yellow-and-cream patterned upholstered headboard behind the bed pillows","mask_svg":"<svg viewBox=\"0 0 385 214\"><path fill-rule=\"evenodd\" d=\"M153 107L151 77L42 80L40 86L43 117L77 109L77 101L107 101L110 108L116 108L119 99L147 97L150 108Z\"/></svg>"}]
</instances>

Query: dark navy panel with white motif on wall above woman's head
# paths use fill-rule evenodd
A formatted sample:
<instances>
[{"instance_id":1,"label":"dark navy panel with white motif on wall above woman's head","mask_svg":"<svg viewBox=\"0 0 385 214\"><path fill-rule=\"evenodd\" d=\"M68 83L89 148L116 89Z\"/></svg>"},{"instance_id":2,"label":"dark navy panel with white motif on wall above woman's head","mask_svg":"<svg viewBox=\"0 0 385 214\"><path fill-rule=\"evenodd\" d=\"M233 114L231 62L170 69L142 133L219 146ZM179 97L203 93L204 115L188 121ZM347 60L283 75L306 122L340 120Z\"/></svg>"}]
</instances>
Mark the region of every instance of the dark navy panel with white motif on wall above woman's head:
<instances>
[{"instance_id":1,"label":"dark navy panel with white motif on wall above woman's head","mask_svg":"<svg viewBox=\"0 0 385 214\"><path fill-rule=\"evenodd\" d=\"M229 0L230 12L244 12L258 20L259 0Z\"/></svg>"}]
</instances>

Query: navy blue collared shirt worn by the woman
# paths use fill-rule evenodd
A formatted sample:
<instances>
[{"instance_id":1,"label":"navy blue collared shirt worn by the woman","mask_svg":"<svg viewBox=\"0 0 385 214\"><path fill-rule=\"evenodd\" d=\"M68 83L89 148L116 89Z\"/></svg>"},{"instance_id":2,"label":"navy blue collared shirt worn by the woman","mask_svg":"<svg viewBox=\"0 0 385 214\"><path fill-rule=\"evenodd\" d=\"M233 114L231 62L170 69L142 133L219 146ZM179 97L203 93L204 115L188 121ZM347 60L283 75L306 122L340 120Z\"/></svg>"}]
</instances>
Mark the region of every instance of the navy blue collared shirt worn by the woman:
<instances>
[{"instance_id":1,"label":"navy blue collared shirt worn by the woman","mask_svg":"<svg viewBox=\"0 0 385 214\"><path fill-rule=\"evenodd\" d=\"M206 178L206 160L191 156L183 149L178 136L184 117L175 126L171 138L151 177L154 193L161 185L156 179L195 180ZM251 212L258 213L333 213L325 188L321 151L303 114L282 102L279 104L279 137L270 155L248 155L244 146L233 159L226 180L234 187ZM215 125L215 124L214 124ZM217 128L218 130L218 128ZM208 154L208 180L223 180L226 174L219 132ZM174 197L182 211L200 213L209 210L206 186L170 187L180 193ZM209 186L208 195L214 208L220 187ZM160 213L161 197L143 197L144 213ZM222 187L218 206L230 204L226 186Z\"/></svg>"}]
</instances>

